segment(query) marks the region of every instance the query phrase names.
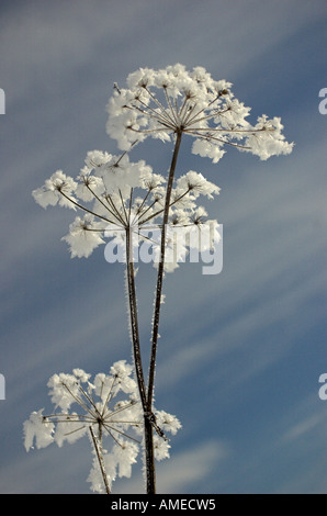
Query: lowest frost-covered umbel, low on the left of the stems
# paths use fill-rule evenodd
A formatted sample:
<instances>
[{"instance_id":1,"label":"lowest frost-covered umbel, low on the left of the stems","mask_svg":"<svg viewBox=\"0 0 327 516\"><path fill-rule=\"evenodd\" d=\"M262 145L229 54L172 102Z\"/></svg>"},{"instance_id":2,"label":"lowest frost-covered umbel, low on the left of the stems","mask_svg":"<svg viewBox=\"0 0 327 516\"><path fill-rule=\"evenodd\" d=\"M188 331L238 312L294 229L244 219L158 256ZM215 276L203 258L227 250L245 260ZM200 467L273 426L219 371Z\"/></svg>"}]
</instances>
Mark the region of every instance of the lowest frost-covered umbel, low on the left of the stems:
<instances>
[{"instance_id":1,"label":"lowest frost-covered umbel, low on the left of the stems","mask_svg":"<svg viewBox=\"0 0 327 516\"><path fill-rule=\"evenodd\" d=\"M44 414L44 408L33 412L24 423L26 450L34 446L45 448L52 442L61 447L64 442L72 444L87 435L94 455L88 476L91 490L105 492L101 463L109 489L117 476L129 478L144 434L143 408L133 367L120 360L109 373L98 373L93 381L83 370L74 369L71 374L54 374L48 388L55 408L49 414ZM155 437L155 453L156 459L161 460L169 457L166 434L174 435L181 424L164 411L154 411L154 415L160 428L160 435ZM106 449L106 441L110 449Z\"/></svg>"}]
</instances>

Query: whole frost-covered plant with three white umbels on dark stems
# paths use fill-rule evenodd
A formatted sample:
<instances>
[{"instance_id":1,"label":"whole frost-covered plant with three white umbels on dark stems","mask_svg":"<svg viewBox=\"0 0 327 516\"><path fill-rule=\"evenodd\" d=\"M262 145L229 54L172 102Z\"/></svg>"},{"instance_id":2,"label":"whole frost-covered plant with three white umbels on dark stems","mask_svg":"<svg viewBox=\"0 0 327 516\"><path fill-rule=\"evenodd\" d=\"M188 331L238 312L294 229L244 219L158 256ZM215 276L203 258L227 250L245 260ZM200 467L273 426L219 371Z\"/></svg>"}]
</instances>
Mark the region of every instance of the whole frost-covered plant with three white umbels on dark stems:
<instances>
[{"instance_id":1,"label":"whole frost-covered plant with three white umbels on dark stems","mask_svg":"<svg viewBox=\"0 0 327 516\"><path fill-rule=\"evenodd\" d=\"M199 205L200 195L212 199L219 193L219 188L194 170L177 175L177 161L183 135L194 138L193 154L208 157L214 164L223 157L227 146L251 153L262 160L270 156L290 154L293 148L293 144L289 144L282 134L283 126L279 117L270 120L267 115L262 115L255 124L250 124L247 120L250 109L234 98L230 88L229 82L214 80L202 67L195 67L191 71L179 64L160 70L140 68L127 77L126 88L114 85L114 92L108 104L106 132L116 141L122 154L90 152L76 179L66 176L63 170L57 170L42 188L33 191L35 201L43 207L59 204L83 212L83 216L78 215L70 224L68 235L63 238L69 246L71 257L89 257L99 245L105 243L105 238L110 237L122 250L126 265L126 292L136 379L133 402L125 400L124 408L119 413L116 408L108 408L103 399L98 405L92 397L99 392L97 382L90 383L86 373L75 370L72 377L63 373L53 377L50 384L53 386L55 378L60 385L59 392L63 397L59 407L63 408L63 403L65 405L63 400L76 393L75 401L81 404L83 400L87 416L64 413L45 417L38 412L33 413L24 428L27 448L31 447L33 436L36 438L36 446L43 447L52 440L56 440L57 444L61 444L65 439L71 440L77 435L87 433L89 428L98 458L98 472L101 472L106 492L110 491L120 461L124 463L120 474L125 472L129 474L131 464L136 459L134 441L126 445L127 451L124 452L121 442L114 448L119 451L108 453L103 450L104 430L114 438L115 445L122 436L127 438L124 426L126 423L120 419L124 416L123 412L127 414L128 411L131 414L128 425L133 426L134 433L143 434L146 485L149 494L156 493L155 456L158 457L159 450L161 450L159 457L167 455L165 429L170 428L174 433L180 427L174 416L156 412L154 408L164 276L165 272L173 271L192 247L200 248L203 245L203 235L208 235L206 242L210 248L221 238L217 221L207 220L205 209ZM134 146L142 144L148 137L173 144L167 175L155 173L144 160L137 162L129 160L128 154ZM172 227L179 229L174 236L181 237L182 245L171 237ZM151 235L157 232L158 238L149 237L149 229ZM146 381L139 345L134 251L140 242L149 240L154 245L157 284L149 371ZM81 386L82 378L87 382L86 389ZM108 385L109 380L105 375L97 378L98 381L99 378L103 381L105 379ZM64 383L63 379L66 379ZM114 383L112 381L111 395L106 402L111 402L113 397ZM124 392L132 395L128 391ZM74 434L67 427L71 425ZM115 436L117 431L121 431L120 438ZM91 478L93 479L93 474ZM94 482L93 489L97 485L99 491L99 479L92 482Z\"/></svg>"}]
</instances>

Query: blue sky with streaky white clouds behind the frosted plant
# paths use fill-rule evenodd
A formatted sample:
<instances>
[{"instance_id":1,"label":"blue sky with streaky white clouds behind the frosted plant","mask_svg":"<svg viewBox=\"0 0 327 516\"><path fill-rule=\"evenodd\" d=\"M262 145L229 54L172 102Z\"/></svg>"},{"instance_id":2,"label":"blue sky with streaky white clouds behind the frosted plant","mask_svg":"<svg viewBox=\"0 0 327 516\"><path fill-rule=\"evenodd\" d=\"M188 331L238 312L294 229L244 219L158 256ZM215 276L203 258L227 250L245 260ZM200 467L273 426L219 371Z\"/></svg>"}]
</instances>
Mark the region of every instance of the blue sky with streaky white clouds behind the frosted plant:
<instances>
[{"instance_id":1,"label":"blue sky with streaky white clouds behind the frosted plant","mask_svg":"<svg viewBox=\"0 0 327 516\"><path fill-rule=\"evenodd\" d=\"M183 142L180 173L221 187L224 267L187 263L167 277L156 406L182 430L158 464L160 493L327 493L327 5L311 0L2 1L1 493L84 493L89 442L25 452L22 424L49 407L46 383L131 359L123 267L99 248L71 260L60 240L71 212L37 206L56 169L76 176L105 134L113 82L139 67L203 66L235 96L281 116L290 156L260 161L228 149L213 165ZM136 155L166 171L171 148ZM143 348L154 271L138 273ZM139 468L115 493L143 492Z\"/></svg>"}]
</instances>

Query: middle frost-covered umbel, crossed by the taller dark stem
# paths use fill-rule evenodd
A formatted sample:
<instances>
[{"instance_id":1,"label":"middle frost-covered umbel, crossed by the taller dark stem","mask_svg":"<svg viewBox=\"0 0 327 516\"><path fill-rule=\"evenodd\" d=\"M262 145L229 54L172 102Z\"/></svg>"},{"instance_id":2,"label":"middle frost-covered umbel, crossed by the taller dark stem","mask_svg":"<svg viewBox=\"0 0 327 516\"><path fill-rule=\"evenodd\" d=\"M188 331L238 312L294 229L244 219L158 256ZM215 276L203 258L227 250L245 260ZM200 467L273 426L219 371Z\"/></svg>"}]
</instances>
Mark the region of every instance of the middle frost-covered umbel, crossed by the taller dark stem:
<instances>
[{"instance_id":1,"label":"middle frost-covered umbel, crossed by the taller dark stem","mask_svg":"<svg viewBox=\"0 0 327 516\"><path fill-rule=\"evenodd\" d=\"M112 244L125 253L128 231L132 248L138 248L143 242L151 242L153 262L156 266L160 251L159 238L149 240L148 235L149 232L160 233L166 188L167 178L154 173L144 160L132 162L126 153L113 156L93 150L88 153L76 179L57 170L43 187L33 191L33 197L43 207L60 204L83 212L82 216L76 216L69 225L69 233L63 237L69 246L71 258L88 258L99 245L105 244L105 238L112 238ZM218 193L218 187L193 170L174 181L168 224L174 231L180 229L181 242L187 243L188 235L201 232L213 235L212 246L217 243L219 233L212 228L213 224L216 228L218 224L210 221L205 210L196 203L200 195L213 199ZM199 210L201 218L198 216ZM189 238L190 242L199 244L201 240ZM179 253L172 249L167 255L165 270L173 271L189 249L190 245L179 246Z\"/></svg>"}]
</instances>

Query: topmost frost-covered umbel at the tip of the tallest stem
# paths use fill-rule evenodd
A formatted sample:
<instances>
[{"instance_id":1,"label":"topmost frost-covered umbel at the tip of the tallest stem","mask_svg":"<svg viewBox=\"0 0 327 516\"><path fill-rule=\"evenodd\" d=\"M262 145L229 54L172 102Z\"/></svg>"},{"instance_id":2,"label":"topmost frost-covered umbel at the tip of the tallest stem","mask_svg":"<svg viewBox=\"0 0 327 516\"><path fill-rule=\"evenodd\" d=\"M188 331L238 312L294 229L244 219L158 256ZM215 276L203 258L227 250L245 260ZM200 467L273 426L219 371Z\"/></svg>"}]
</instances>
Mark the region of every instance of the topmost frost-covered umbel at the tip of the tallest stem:
<instances>
[{"instance_id":1,"label":"topmost frost-covered umbel at the tip of the tallest stem","mask_svg":"<svg viewBox=\"0 0 327 516\"><path fill-rule=\"evenodd\" d=\"M177 64L154 70L140 68L127 77L127 88L116 86L108 104L106 132L119 147L146 137L168 142L171 135L193 137L192 152L217 162L225 145L252 153L260 159L290 154L279 117L262 115L253 125L250 108L237 100L226 80L214 80L202 67L188 71Z\"/></svg>"}]
</instances>

